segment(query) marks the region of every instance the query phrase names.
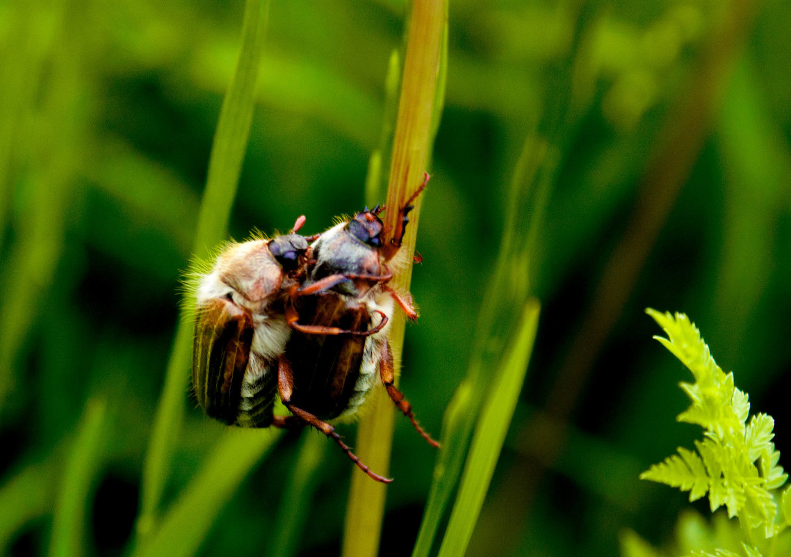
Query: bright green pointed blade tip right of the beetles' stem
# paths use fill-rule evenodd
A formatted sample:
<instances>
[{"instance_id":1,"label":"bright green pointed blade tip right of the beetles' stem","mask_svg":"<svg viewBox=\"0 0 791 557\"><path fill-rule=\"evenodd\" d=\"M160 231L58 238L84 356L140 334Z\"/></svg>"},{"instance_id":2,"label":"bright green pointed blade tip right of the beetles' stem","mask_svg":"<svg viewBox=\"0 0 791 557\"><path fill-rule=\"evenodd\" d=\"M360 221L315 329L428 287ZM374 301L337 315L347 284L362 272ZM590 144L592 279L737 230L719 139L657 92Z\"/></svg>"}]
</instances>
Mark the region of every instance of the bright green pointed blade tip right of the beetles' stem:
<instances>
[{"instance_id":1,"label":"bright green pointed blade tip right of the beetles' stem","mask_svg":"<svg viewBox=\"0 0 791 557\"><path fill-rule=\"evenodd\" d=\"M524 305L517 334L513 336L513 347L503 359L501 369L497 370L494 384L486 397L439 557L461 557L467 551L505 434L517 407L536 339L539 307L535 298Z\"/></svg>"}]
</instances>

